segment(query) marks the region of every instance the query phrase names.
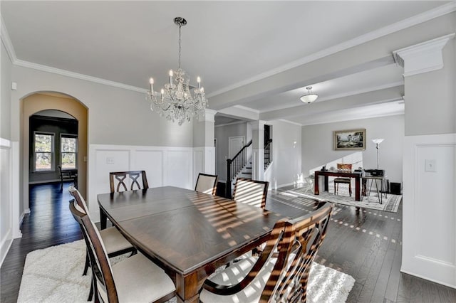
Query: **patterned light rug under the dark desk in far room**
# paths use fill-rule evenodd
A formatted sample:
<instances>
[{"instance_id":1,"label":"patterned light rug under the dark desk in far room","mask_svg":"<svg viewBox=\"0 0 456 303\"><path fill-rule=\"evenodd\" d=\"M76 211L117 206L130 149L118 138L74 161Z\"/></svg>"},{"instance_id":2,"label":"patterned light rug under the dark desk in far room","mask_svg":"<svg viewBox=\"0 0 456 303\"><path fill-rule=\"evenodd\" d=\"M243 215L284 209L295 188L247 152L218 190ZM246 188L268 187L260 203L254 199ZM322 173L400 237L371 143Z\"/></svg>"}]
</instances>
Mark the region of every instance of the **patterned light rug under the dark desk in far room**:
<instances>
[{"instance_id":1,"label":"patterned light rug under the dark desk in far room","mask_svg":"<svg viewBox=\"0 0 456 303\"><path fill-rule=\"evenodd\" d=\"M383 196L382 204L380 204L377 193L372 192L370 196L364 196L363 201L355 201L354 194L353 196L349 196L348 191L339 189L337 195L333 194L333 192L333 189L329 188L329 191L320 191L319 195L314 195L314 192L309 189L294 188L280 194L284 196L296 196L318 201L330 201L348 206L371 208L377 211L389 211L390 213L397 213L400 201L402 201L402 196L393 195L391 193L388 193L387 198Z\"/></svg>"}]
</instances>

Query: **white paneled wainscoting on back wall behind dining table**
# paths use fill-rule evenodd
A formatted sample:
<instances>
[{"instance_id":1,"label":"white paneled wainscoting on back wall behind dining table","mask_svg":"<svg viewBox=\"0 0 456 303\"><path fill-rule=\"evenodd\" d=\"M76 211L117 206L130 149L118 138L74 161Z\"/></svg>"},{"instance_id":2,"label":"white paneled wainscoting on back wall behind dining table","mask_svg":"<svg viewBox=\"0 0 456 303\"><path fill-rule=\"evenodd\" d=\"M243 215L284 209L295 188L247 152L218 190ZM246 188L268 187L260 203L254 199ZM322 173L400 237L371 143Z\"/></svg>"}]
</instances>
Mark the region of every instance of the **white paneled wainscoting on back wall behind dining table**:
<instances>
[{"instance_id":1,"label":"white paneled wainscoting on back wall behind dining table","mask_svg":"<svg viewBox=\"0 0 456 303\"><path fill-rule=\"evenodd\" d=\"M207 151L206 149L209 149ZM199 171L207 166L211 147L144 147L90 144L88 159L88 205L93 220L100 220L98 193L108 193L110 171L144 170L149 187L195 188ZM212 150L212 162L214 151ZM214 167L214 163L212 163ZM213 171L212 171L213 173Z\"/></svg>"}]
</instances>

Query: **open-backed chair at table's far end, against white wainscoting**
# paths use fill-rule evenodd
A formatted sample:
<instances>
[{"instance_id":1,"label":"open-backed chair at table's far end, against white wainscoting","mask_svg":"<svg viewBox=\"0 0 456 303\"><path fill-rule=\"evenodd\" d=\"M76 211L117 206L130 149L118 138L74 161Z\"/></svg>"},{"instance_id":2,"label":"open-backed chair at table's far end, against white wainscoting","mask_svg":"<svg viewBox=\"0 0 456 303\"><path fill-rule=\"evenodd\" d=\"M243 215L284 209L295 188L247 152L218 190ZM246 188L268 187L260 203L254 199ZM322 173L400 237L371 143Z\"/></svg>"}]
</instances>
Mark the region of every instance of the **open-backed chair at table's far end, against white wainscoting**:
<instances>
[{"instance_id":1,"label":"open-backed chair at table's far end, against white wainscoting","mask_svg":"<svg viewBox=\"0 0 456 303\"><path fill-rule=\"evenodd\" d=\"M141 182L138 179L141 177ZM109 186L111 193L116 191L133 191L134 189L147 189L147 176L145 171L114 171L109 173ZM122 186L122 187L120 187Z\"/></svg>"}]
</instances>

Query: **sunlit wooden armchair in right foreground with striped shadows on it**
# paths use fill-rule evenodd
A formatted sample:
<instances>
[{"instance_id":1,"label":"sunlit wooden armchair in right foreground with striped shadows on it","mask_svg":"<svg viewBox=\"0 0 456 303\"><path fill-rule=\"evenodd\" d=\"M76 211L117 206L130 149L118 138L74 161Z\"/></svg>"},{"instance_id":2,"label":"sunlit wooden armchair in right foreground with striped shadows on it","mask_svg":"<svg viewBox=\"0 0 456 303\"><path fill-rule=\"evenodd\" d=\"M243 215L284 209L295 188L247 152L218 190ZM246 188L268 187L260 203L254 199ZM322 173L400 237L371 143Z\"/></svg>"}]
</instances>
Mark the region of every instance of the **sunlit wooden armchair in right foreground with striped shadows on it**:
<instances>
[{"instance_id":1,"label":"sunlit wooden armchair in right foreground with striped shadows on it","mask_svg":"<svg viewBox=\"0 0 456 303\"><path fill-rule=\"evenodd\" d=\"M279 220L259 257L249 257L206 280L201 302L306 302L311 264L332 211L322 203L296 219ZM279 254L274 257L274 252Z\"/></svg>"}]
</instances>

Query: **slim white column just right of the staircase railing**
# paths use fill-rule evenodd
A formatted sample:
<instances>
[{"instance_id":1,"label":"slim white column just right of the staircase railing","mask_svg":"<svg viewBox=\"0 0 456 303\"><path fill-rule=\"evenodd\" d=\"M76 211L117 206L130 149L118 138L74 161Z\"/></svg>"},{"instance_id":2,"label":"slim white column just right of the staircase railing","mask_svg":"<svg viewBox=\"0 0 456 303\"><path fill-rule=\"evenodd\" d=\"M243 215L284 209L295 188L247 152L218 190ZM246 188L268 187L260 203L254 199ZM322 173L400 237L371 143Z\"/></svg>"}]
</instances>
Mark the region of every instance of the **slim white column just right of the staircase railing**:
<instances>
[{"instance_id":1,"label":"slim white column just right of the staircase railing","mask_svg":"<svg viewBox=\"0 0 456 303\"><path fill-rule=\"evenodd\" d=\"M252 126L252 179L264 180L264 121L250 122Z\"/></svg>"}]
</instances>

